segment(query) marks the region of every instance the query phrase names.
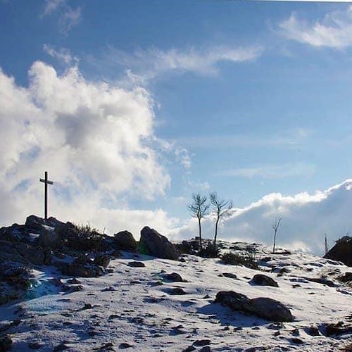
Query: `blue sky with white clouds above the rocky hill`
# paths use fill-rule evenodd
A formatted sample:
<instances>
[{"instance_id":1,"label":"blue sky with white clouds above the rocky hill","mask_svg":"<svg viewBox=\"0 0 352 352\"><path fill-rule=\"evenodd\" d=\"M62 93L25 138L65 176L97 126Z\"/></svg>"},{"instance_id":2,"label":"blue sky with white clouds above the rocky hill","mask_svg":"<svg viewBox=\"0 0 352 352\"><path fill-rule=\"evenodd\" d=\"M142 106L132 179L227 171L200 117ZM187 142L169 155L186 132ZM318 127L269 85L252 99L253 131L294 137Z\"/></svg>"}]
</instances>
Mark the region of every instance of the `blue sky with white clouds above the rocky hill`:
<instances>
[{"instance_id":1,"label":"blue sky with white clouds above the rocky hill","mask_svg":"<svg viewBox=\"0 0 352 352\"><path fill-rule=\"evenodd\" d=\"M221 0L0 1L0 225L219 238L322 253L352 227L352 6ZM212 237L208 217L204 236Z\"/></svg>"}]
</instances>

